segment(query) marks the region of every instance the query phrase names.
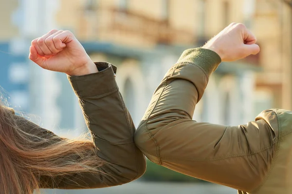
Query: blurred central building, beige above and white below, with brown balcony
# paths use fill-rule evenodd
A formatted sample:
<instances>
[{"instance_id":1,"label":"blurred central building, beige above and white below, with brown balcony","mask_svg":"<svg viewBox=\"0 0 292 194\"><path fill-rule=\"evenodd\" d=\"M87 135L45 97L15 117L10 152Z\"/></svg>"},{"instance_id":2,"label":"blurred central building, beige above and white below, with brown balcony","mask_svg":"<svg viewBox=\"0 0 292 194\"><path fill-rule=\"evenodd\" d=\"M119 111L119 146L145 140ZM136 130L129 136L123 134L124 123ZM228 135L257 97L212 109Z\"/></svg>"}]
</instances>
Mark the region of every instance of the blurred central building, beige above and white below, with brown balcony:
<instances>
[{"instance_id":1,"label":"blurred central building, beige above and white below, with brown balcony","mask_svg":"<svg viewBox=\"0 0 292 194\"><path fill-rule=\"evenodd\" d=\"M69 1L70 9L66 9ZM57 18L58 26L73 31L92 59L118 66L116 79L137 125L155 88L184 49L202 46L231 18L250 22L253 13L237 14L244 11L244 2L61 0L64 9ZM256 56L220 65L194 119L225 125L254 119L252 94L258 63Z\"/></svg>"}]
</instances>

